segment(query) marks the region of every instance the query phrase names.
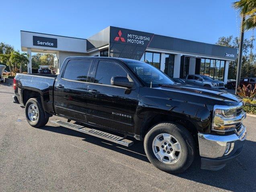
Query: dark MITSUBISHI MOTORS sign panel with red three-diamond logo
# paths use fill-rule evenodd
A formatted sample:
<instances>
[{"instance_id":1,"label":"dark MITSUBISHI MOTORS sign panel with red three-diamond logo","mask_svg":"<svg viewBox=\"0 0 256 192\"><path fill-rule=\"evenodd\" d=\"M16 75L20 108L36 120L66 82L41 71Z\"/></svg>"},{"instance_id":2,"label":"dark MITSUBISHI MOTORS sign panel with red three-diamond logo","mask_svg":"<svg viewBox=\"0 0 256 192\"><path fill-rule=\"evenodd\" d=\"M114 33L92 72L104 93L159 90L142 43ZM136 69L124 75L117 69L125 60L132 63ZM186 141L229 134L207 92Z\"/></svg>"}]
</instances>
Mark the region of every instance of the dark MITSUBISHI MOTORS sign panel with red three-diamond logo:
<instances>
[{"instance_id":1,"label":"dark MITSUBISHI MOTORS sign panel with red three-diamond logo","mask_svg":"<svg viewBox=\"0 0 256 192\"><path fill-rule=\"evenodd\" d=\"M152 33L111 27L110 42L148 46L153 36Z\"/></svg>"}]
</instances>

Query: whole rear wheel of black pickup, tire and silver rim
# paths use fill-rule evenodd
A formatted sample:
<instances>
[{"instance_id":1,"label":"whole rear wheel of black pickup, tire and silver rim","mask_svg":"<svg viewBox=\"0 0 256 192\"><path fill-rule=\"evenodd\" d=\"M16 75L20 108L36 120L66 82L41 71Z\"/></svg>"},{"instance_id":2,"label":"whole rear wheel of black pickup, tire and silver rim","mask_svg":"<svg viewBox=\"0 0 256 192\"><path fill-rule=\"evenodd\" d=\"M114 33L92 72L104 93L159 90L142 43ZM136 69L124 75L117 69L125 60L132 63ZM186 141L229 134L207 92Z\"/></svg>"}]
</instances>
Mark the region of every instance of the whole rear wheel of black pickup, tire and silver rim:
<instances>
[{"instance_id":1,"label":"whole rear wheel of black pickup, tire and silver rim","mask_svg":"<svg viewBox=\"0 0 256 192\"><path fill-rule=\"evenodd\" d=\"M49 116L45 114L41 101L31 98L27 101L26 107L27 122L33 127L41 127L47 124Z\"/></svg>"}]
</instances>

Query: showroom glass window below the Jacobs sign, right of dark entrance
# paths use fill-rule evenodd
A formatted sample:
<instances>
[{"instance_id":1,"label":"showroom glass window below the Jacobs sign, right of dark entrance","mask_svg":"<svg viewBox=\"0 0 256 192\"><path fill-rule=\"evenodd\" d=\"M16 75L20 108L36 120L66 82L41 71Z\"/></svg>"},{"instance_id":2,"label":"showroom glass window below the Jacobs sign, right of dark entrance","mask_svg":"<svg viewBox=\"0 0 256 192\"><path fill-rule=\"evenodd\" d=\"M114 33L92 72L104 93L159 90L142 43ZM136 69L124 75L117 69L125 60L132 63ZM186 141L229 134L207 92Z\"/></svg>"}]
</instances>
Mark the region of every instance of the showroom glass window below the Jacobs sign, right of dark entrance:
<instances>
[{"instance_id":1,"label":"showroom glass window below the Jacobs sign, right of dark entrance","mask_svg":"<svg viewBox=\"0 0 256 192\"><path fill-rule=\"evenodd\" d=\"M225 61L201 58L200 74L207 75L216 80L223 80Z\"/></svg>"}]
</instances>

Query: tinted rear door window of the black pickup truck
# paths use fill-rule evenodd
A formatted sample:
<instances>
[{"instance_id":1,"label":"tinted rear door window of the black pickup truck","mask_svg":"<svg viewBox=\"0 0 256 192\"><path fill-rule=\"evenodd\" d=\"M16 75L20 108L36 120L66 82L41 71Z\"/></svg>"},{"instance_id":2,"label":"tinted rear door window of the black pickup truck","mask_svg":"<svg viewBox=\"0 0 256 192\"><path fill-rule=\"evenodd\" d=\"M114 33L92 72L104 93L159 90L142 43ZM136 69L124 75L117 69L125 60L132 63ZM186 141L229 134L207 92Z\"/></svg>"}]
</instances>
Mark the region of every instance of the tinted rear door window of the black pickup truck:
<instances>
[{"instance_id":1,"label":"tinted rear door window of the black pickup truck","mask_svg":"<svg viewBox=\"0 0 256 192\"><path fill-rule=\"evenodd\" d=\"M66 65L63 78L86 82L92 60L70 60Z\"/></svg>"}]
</instances>

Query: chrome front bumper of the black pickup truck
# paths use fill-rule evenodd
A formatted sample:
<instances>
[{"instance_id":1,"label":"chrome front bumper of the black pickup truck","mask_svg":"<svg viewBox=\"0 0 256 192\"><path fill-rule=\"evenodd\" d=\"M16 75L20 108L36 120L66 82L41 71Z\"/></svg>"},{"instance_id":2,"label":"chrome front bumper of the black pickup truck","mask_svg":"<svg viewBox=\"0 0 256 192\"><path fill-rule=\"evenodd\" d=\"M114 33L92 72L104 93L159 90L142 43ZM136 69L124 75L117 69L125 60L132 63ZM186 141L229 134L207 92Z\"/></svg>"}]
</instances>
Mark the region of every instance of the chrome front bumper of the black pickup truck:
<instances>
[{"instance_id":1,"label":"chrome front bumper of the black pickup truck","mask_svg":"<svg viewBox=\"0 0 256 192\"><path fill-rule=\"evenodd\" d=\"M225 158L231 156L238 148L243 147L246 139L246 127L242 124L238 133L227 136L198 134L199 152L201 157L205 158ZM227 145L229 150L227 151Z\"/></svg>"}]
</instances>

